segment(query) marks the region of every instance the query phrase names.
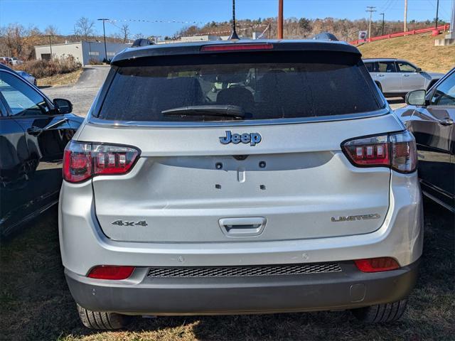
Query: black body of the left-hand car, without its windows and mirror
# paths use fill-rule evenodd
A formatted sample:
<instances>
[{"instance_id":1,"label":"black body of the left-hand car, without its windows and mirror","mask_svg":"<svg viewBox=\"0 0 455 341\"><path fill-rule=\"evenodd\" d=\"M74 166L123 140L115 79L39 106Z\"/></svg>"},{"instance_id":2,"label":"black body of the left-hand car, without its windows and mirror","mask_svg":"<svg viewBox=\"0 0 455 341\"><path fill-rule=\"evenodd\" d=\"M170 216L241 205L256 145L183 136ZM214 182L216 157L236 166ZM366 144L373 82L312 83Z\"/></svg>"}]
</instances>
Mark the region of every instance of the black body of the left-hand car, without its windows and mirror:
<instances>
[{"instance_id":1,"label":"black body of the left-hand car, without its windows and mirror","mask_svg":"<svg viewBox=\"0 0 455 341\"><path fill-rule=\"evenodd\" d=\"M14 80L25 82L12 70L0 68L0 72L7 72L14 75ZM42 97L50 110L54 110L50 99L38 88L28 83L24 85L28 91ZM0 97L6 107L6 115L0 118L0 232L6 236L19 224L57 202L62 181L63 149L79 128L82 118L51 112L47 115L13 116L8 100L3 94Z\"/></svg>"}]
</instances>

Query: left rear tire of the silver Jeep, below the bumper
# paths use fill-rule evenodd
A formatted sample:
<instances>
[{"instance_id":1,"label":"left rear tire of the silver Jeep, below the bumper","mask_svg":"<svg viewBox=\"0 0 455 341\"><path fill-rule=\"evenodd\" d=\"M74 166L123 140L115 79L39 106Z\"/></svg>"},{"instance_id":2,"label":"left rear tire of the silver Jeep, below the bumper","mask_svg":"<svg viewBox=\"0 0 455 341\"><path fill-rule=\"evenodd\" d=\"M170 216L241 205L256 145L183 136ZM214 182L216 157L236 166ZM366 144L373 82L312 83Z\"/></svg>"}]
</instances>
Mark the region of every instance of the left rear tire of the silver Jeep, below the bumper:
<instances>
[{"instance_id":1,"label":"left rear tire of the silver Jeep, below the bumper","mask_svg":"<svg viewBox=\"0 0 455 341\"><path fill-rule=\"evenodd\" d=\"M77 304L77 312L85 327L90 329L120 329L128 325L130 317L117 313L105 313L82 308Z\"/></svg>"}]
</instances>

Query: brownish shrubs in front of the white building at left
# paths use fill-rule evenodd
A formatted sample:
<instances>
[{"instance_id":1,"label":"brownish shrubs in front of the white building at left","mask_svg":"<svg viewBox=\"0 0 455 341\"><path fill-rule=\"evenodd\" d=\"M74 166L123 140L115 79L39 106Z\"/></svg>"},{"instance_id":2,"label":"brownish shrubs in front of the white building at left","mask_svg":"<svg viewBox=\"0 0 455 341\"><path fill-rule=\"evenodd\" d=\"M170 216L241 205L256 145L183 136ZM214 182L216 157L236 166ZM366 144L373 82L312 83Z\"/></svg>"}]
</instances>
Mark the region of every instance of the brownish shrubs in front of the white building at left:
<instances>
[{"instance_id":1,"label":"brownish shrubs in front of the white building at left","mask_svg":"<svg viewBox=\"0 0 455 341\"><path fill-rule=\"evenodd\" d=\"M36 78L43 78L73 72L81 67L82 65L75 60L73 55L68 55L68 57L53 60L28 60L15 66L14 69L28 72Z\"/></svg>"}]
</instances>

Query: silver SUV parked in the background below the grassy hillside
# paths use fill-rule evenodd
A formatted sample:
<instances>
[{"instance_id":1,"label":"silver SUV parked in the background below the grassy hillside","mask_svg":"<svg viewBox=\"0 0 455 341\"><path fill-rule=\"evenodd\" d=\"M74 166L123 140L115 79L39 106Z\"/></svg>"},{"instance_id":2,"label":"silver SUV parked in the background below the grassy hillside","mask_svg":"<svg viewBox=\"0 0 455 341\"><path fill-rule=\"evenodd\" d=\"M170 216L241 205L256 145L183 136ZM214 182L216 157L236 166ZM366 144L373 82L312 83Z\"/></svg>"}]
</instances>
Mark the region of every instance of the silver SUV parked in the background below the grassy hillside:
<instances>
[{"instance_id":1,"label":"silver SUV parked in the background below the grassy hillside","mask_svg":"<svg viewBox=\"0 0 455 341\"><path fill-rule=\"evenodd\" d=\"M412 90L428 90L444 76L443 73L422 71L402 59L368 58L363 62L385 97L405 97Z\"/></svg>"}]
</instances>

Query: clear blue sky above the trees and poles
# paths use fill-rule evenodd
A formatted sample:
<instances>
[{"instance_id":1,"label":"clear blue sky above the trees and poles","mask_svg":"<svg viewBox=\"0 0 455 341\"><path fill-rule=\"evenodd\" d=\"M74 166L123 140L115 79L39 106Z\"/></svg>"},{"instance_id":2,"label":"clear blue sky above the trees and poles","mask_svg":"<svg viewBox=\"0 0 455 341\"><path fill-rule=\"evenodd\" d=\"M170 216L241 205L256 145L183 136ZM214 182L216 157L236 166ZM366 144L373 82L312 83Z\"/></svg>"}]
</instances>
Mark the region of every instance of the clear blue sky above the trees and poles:
<instances>
[{"instance_id":1,"label":"clear blue sky above the trees and poles","mask_svg":"<svg viewBox=\"0 0 455 341\"><path fill-rule=\"evenodd\" d=\"M437 0L408 0L408 20L433 20L436 4ZM85 16L94 21L116 20L106 23L107 34L119 33L119 26L129 23L132 35L164 37L173 36L194 21L199 26L208 21L228 21L231 6L231 0L0 0L0 26L21 23L44 30L53 25L60 34L69 35L77 19ZM380 20L382 12L385 20L403 20L405 0L284 0L284 17L367 18L366 6L376 7L373 20ZM451 6L452 0L439 0L439 18L450 21ZM237 19L274 17L277 8L278 0L237 0L235 4ZM102 34L100 21L95 31Z\"/></svg>"}]
</instances>

